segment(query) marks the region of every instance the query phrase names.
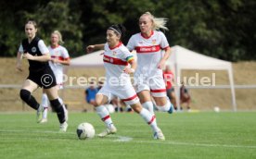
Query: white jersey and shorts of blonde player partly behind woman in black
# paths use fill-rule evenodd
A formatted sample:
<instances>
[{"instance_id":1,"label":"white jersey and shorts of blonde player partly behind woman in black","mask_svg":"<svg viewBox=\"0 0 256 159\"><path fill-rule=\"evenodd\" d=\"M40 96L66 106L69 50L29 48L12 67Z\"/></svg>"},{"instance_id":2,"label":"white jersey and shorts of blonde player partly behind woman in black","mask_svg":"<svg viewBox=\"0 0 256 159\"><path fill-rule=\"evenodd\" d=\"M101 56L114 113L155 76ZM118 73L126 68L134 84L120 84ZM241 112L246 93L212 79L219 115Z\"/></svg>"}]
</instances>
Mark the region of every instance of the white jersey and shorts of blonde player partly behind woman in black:
<instances>
[{"instance_id":1,"label":"white jersey and shorts of blonde player partly behind woman in black","mask_svg":"<svg viewBox=\"0 0 256 159\"><path fill-rule=\"evenodd\" d=\"M51 58L57 58L58 60L67 60L70 58L70 55L67 51L67 49L61 45L58 45L57 47L53 48L51 46L48 46ZM49 61L49 65L52 68L57 84L62 84L63 82L63 65L59 63L53 63L52 61Z\"/></svg>"}]
</instances>

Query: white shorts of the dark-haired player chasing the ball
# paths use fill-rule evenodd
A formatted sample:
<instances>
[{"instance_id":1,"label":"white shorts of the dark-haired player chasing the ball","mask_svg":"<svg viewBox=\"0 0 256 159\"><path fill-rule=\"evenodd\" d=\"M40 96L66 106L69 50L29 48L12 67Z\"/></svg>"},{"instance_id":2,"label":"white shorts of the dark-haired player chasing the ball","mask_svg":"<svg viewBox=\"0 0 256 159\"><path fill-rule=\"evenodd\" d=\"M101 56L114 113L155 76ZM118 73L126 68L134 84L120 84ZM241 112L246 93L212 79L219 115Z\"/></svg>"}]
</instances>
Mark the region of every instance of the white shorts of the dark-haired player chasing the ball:
<instances>
[{"instance_id":1,"label":"white shorts of the dark-haired player chasing the ball","mask_svg":"<svg viewBox=\"0 0 256 159\"><path fill-rule=\"evenodd\" d=\"M119 97L125 104L137 104L139 98L132 84L127 84L122 87L110 87L107 83L97 92L108 97L109 103L114 96Z\"/></svg>"}]
</instances>

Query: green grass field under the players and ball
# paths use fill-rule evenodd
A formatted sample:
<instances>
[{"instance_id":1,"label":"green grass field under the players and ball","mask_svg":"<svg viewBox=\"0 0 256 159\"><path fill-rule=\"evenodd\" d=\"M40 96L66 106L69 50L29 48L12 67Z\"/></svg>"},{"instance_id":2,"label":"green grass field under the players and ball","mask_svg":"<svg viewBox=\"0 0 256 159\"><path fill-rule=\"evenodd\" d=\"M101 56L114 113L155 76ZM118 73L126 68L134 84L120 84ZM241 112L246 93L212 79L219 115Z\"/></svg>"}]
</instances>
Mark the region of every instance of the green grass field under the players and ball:
<instances>
[{"instance_id":1,"label":"green grass field under the players and ball","mask_svg":"<svg viewBox=\"0 0 256 159\"><path fill-rule=\"evenodd\" d=\"M96 133L104 125L95 113L70 113L69 129L58 133L49 114L37 124L35 114L0 114L0 158L256 158L255 112L158 113L166 141L152 139L151 129L136 114L112 114L116 135L80 141L76 127L89 122Z\"/></svg>"}]
</instances>

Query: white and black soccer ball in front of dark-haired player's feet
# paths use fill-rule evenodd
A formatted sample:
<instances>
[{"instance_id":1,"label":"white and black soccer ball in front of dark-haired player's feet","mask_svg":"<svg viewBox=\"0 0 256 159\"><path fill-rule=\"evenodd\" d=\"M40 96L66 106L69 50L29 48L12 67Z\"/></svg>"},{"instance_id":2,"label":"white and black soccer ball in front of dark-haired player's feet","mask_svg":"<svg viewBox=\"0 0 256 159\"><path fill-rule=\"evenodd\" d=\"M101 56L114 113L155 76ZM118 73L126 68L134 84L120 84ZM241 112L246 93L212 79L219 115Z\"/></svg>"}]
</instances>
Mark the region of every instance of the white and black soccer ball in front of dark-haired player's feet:
<instances>
[{"instance_id":1,"label":"white and black soccer ball in front of dark-haired player's feet","mask_svg":"<svg viewBox=\"0 0 256 159\"><path fill-rule=\"evenodd\" d=\"M81 123L77 127L76 134L78 139L86 140L86 139L94 138L96 134L96 130L92 124L85 122L85 123Z\"/></svg>"}]
</instances>

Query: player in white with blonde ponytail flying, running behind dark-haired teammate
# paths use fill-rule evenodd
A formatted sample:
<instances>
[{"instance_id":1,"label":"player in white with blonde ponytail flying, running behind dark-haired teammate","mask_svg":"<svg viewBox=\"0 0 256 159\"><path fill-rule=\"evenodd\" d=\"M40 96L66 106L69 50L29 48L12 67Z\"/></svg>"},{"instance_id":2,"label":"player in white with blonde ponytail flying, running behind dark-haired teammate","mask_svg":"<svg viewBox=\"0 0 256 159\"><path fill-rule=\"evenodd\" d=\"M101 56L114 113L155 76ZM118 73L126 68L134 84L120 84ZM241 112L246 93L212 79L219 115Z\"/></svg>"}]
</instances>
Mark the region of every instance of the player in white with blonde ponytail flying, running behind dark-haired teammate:
<instances>
[{"instance_id":1,"label":"player in white with blonde ponytail flying, running behind dark-haired teammate","mask_svg":"<svg viewBox=\"0 0 256 159\"><path fill-rule=\"evenodd\" d=\"M141 104L154 114L151 95L160 111L173 113L173 104L166 96L162 67L171 54L165 35L159 29L165 27L165 18L154 18L146 12L139 18L140 33L134 34L127 48L137 53L137 69L134 73L135 90ZM162 54L164 51L164 54ZM151 94L150 94L151 93Z\"/></svg>"}]
</instances>

